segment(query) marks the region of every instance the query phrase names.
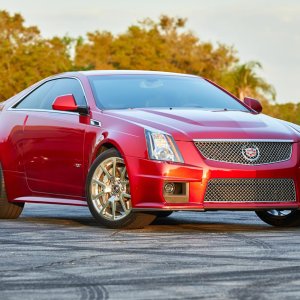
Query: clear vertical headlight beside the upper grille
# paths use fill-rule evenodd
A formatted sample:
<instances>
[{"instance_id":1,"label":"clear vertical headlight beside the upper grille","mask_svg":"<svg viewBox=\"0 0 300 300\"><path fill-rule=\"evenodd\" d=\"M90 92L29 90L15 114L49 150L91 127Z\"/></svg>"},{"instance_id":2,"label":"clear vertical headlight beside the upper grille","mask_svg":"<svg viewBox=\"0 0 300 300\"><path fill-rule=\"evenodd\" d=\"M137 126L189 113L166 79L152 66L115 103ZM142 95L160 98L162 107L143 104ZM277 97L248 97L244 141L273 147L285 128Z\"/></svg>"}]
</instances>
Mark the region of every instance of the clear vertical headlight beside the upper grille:
<instances>
[{"instance_id":1,"label":"clear vertical headlight beside the upper grille","mask_svg":"<svg viewBox=\"0 0 300 300\"><path fill-rule=\"evenodd\" d=\"M182 155L171 135L150 130L145 130L145 134L150 159L183 163Z\"/></svg>"}]
</instances>

